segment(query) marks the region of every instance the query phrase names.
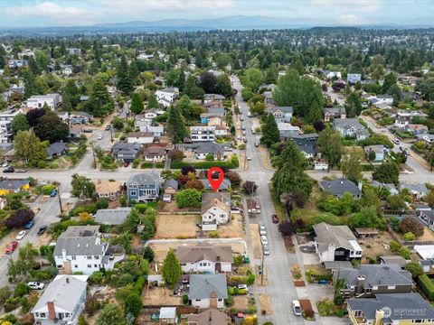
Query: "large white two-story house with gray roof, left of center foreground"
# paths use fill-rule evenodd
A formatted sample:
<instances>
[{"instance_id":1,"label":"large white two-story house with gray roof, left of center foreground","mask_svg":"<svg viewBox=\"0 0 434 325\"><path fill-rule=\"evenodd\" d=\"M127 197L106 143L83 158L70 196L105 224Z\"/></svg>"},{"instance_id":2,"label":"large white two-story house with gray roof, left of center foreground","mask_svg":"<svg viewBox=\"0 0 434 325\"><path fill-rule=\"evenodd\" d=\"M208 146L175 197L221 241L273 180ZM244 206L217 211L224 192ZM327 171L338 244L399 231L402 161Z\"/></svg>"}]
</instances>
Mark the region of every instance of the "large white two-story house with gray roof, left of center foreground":
<instances>
[{"instance_id":1,"label":"large white two-story house with gray roof, left of center foreground","mask_svg":"<svg viewBox=\"0 0 434 325\"><path fill-rule=\"evenodd\" d=\"M84 229L87 226L80 227ZM90 275L102 268L113 268L115 261L109 259L108 248L109 243L101 241L99 232L80 232L78 229L66 231L57 239L53 256L57 268L64 274L81 272Z\"/></svg>"}]
</instances>

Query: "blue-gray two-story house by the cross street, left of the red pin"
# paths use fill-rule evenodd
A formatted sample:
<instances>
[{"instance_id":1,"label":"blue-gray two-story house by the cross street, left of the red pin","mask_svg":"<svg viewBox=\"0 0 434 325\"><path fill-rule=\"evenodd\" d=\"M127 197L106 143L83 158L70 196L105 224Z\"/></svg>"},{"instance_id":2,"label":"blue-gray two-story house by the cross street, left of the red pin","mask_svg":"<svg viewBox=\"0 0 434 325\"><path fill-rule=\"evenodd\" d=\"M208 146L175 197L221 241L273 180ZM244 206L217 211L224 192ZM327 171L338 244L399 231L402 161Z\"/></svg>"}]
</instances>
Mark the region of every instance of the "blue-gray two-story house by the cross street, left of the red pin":
<instances>
[{"instance_id":1,"label":"blue-gray two-story house by the cross street, left of the red pin","mask_svg":"<svg viewBox=\"0 0 434 325\"><path fill-rule=\"evenodd\" d=\"M160 175L158 172L143 172L131 176L127 181L128 201L154 201L160 195Z\"/></svg>"}]
</instances>

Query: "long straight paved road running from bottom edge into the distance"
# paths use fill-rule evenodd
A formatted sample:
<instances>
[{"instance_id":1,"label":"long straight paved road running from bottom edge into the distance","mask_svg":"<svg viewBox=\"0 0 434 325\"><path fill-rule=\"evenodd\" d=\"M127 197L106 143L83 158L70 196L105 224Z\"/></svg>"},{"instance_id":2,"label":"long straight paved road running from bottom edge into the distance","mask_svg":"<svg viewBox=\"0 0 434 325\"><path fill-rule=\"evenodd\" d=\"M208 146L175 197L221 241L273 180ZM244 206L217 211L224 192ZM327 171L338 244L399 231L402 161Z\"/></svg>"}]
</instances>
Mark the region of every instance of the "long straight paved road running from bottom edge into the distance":
<instances>
[{"instance_id":1,"label":"long straight paved road running from bottom edge into the distance","mask_svg":"<svg viewBox=\"0 0 434 325\"><path fill-rule=\"evenodd\" d=\"M290 269L291 265L297 264L297 255L287 253L277 226L271 222L271 215L275 213L269 194L269 181L273 172L264 169L259 155L259 148L254 146L255 141L259 141L259 137L251 134L251 118L247 116L249 108L241 98L242 87L240 80L236 77L232 77L231 79L233 88L238 90L236 99L241 114L244 117L243 123L246 125L246 154L251 157L251 161L248 162L249 168L246 171L242 171L241 176L243 179L255 181L259 185L255 198L259 200L261 214L256 218L250 219L249 222L265 225L269 239L270 255L265 256L264 262L264 268L268 273L268 285L255 286L252 292L255 293L258 305L259 293L270 295L273 315L262 316L259 313L259 323L270 320L273 324L302 324L304 320L301 317L296 317L291 307L291 302L297 299L297 292L290 275ZM248 236L250 236L250 229L247 228L246 231ZM260 262L260 260L255 260L256 265L260 265Z\"/></svg>"}]
</instances>

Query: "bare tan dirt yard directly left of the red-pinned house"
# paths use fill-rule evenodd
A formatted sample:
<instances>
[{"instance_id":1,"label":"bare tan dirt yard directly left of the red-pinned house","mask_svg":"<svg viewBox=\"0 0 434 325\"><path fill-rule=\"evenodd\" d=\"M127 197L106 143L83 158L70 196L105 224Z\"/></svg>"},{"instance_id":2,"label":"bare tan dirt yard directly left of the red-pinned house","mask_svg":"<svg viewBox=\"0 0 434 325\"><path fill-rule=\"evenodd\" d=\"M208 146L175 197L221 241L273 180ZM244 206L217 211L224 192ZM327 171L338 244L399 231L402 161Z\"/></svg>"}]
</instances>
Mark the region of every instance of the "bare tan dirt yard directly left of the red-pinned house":
<instances>
[{"instance_id":1,"label":"bare tan dirt yard directly left of the red-pinned house","mask_svg":"<svg viewBox=\"0 0 434 325\"><path fill-rule=\"evenodd\" d=\"M195 238L198 215L157 215L156 239Z\"/></svg>"}]
</instances>

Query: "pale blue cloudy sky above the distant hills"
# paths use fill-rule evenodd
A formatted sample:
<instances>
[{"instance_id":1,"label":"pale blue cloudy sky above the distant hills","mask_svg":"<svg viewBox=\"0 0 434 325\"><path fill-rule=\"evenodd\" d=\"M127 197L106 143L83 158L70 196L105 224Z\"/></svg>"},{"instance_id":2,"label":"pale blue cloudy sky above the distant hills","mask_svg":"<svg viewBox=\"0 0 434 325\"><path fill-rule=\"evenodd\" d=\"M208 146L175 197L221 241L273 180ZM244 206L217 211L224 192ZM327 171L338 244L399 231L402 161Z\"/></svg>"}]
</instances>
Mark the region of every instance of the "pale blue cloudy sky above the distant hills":
<instances>
[{"instance_id":1,"label":"pale blue cloudy sky above the distant hills","mask_svg":"<svg viewBox=\"0 0 434 325\"><path fill-rule=\"evenodd\" d=\"M0 26L262 15L333 25L434 24L434 0L0 0Z\"/></svg>"}]
</instances>

